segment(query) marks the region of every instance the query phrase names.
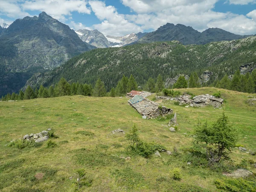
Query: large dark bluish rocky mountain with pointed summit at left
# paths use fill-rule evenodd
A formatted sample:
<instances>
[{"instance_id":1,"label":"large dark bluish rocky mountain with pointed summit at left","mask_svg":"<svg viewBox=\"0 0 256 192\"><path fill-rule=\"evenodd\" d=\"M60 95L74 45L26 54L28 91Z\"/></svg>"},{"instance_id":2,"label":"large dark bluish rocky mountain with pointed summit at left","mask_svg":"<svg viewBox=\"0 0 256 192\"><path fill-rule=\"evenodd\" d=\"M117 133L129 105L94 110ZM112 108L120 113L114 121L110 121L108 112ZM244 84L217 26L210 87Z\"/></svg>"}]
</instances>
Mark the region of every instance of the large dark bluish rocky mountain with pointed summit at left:
<instances>
[{"instance_id":1,"label":"large dark bluish rocky mountain with pointed summit at left","mask_svg":"<svg viewBox=\"0 0 256 192\"><path fill-rule=\"evenodd\" d=\"M96 48L45 12L17 19L7 29L0 29L0 95L17 92L36 72L52 70Z\"/></svg>"}]
</instances>

